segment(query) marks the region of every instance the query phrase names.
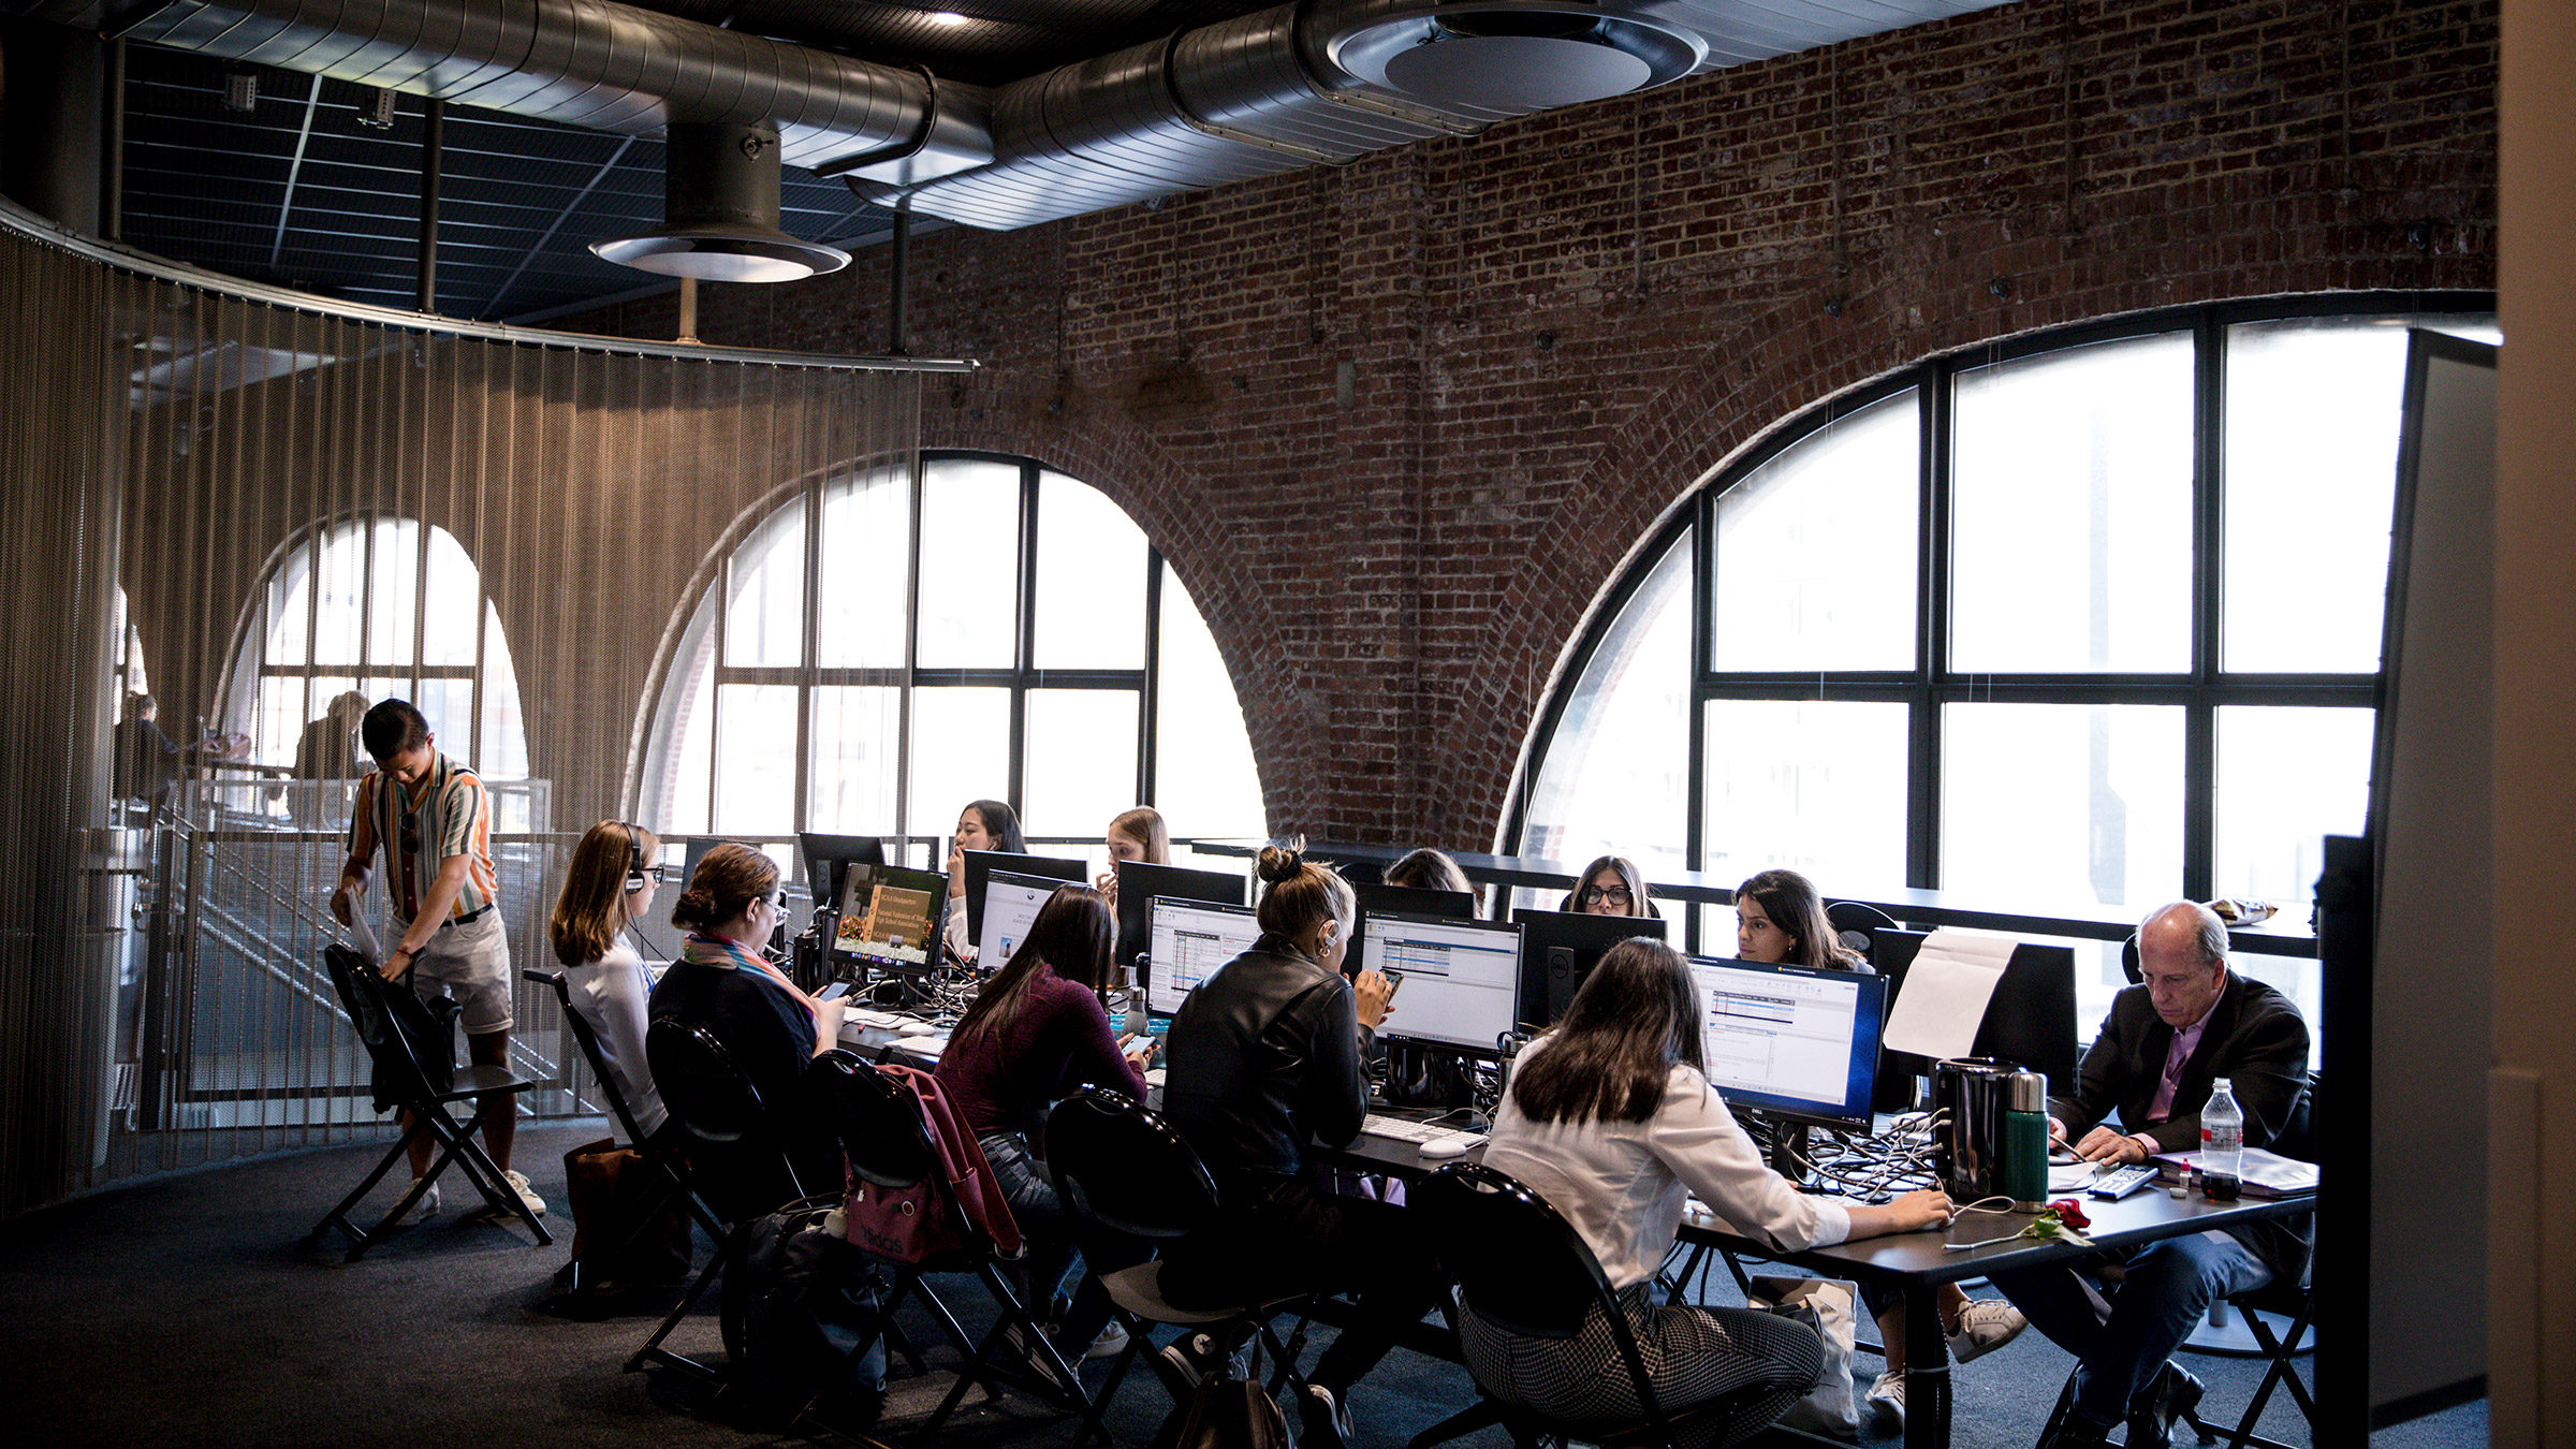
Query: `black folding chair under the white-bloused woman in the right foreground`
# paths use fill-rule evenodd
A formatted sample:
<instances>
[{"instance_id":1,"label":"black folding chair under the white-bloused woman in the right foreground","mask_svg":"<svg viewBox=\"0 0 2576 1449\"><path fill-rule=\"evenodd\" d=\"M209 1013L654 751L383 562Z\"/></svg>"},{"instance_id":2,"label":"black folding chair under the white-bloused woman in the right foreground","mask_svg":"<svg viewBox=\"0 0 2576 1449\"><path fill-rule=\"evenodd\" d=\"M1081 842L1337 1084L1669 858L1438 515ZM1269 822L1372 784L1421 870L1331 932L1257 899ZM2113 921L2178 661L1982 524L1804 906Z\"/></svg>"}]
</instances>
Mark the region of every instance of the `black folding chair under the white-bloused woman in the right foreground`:
<instances>
[{"instance_id":1,"label":"black folding chair under the white-bloused woman in the right foreground","mask_svg":"<svg viewBox=\"0 0 2576 1449\"><path fill-rule=\"evenodd\" d=\"M1422 1212L1432 1225L1440 1261L1450 1281L1458 1284L1458 1302L1479 1320L1530 1338L1571 1338L1582 1333L1587 1315L1597 1307L1610 1320L1620 1364L1628 1369L1636 1403L1646 1408L1646 1415L1623 1426L1551 1423L1494 1397L1479 1382L1481 1397L1468 1410L1425 1428L1406 1449L1430 1449L1497 1423L1512 1434L1515 1444L1566 1436L1605 1449L1677 1444L1685 1428L1700 1431L1726 1423L1741 1415L1752 1400L1777 1392L1754 1385L1667 1415L1646 1379L1646 1359L1638 1354L1628 1312L1620 1310L1607 1274L1574 1225L1546 1199L1481 1163L1450 1163L1414 1183L1409 1199L1414 1212ZM1443 1305L1443 1310L1455 1315L1455 1302ZM1473 1372L1476 1364L1468 1361L1468 1377Z\"/></svg>"}]
</instances>

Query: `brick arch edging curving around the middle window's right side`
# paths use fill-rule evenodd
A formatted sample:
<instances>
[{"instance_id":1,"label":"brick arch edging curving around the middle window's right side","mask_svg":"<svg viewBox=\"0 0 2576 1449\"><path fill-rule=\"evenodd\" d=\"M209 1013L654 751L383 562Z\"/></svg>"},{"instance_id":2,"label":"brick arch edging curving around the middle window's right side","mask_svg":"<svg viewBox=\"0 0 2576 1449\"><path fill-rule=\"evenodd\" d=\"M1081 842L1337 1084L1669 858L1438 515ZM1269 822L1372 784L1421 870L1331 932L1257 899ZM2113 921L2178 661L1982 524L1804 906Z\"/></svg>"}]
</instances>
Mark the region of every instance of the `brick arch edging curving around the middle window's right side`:
<instances>
[{"instance_id":1,"label":"brick arch edging curving around the middle window's right side","mask_svg":"<svg viewBox=\"0 0 2576 1449\"><path fill-rule=\"evenodd\" d=\"M979 379L981 382L981 379ZM1206 505L1206 487L1141 428L1097 413L1048 413L1051 397L961 387L956 407L925 400L922 449L971 449L1036 459L1105 492L1144 529L1164 562L1190 590L1216 655L1234 681L1234 699L1252 737L1262 812L1293 815L1288 781L1306 745L1296 732L1296 691L1280 670L1255 668L1265 645L1280 637L1280 616L1267 590L1226 544L1226 523Z\"/></svg>"}]
</instances>

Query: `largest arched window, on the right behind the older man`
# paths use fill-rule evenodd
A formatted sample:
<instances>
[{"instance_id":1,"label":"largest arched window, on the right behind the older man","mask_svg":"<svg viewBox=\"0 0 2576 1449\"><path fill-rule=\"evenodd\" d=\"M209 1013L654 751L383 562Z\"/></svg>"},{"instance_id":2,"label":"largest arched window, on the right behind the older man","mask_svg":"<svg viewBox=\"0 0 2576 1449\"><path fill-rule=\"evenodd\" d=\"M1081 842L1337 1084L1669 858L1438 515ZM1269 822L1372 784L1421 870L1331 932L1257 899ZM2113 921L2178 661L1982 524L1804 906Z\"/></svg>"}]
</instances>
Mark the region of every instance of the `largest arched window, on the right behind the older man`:
<instances>
[{"instance_id":1,"label":"largest arched window, on the right behind the older man","mask_svg":"<svg viewBox=\"0 0 2576 1449\"><path fill-rule=\"evenodd\" d=\"M1793 423L1613 590L1520 851L2306 915L2367 802L2406 327L2494 338L2414 302L2025 338ZM2313 1024L2313 962L2249 969Z\"/></svg>"}]
</instances>

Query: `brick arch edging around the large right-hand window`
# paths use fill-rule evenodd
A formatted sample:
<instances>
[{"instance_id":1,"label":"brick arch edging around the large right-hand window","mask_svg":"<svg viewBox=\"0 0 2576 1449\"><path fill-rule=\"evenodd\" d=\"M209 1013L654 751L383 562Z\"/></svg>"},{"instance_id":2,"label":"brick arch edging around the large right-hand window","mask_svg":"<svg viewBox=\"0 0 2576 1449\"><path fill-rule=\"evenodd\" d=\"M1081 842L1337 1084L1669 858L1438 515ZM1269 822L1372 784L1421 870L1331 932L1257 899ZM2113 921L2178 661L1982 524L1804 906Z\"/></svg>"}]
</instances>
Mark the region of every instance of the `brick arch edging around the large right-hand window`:
<instances>
[{"instance_id":1,"label":"brick arch edging around the large right-hand window","mask_svg":"<svg viewBox=\"0 0 2576 1449\"><path fill-rule=\"evenodd\" d=\"M1963 255L1953 271L1984 278L1991 260ZM1924 320L1919 304L1896 302L1924 294L1965 299L1971 291L1942 281L1958 278L1935 276L1927 286L1922 276L1891 276L1852 297L1839 320L1803 302L1775 304L1708 343L1703 356L1710 366L1682 369L1677 382L1628 407L1623 425L1610 431L1610 443L1528 539L1530 557L1556 559L1558 567L1522 570L1504 588L1484 632L1486 657L1546 660L1543 686L1530 694L1510 670L1453 681L1455 714L1435 724L1458 748L1437 763L1427 792L1455 802L1461 833L1492 838L1497 848L1510 846L1499 833L1510 820L1510 802L1528 784L1546 704L1582 665L1582 639L1602 606L1631 570L1643 567L1646 544L1677 508L1816 407L1937 356L2079 322L2264 297L2478 286L2491 284L2491 276L2463 268L2463 276L2429 281L2421 266L2403 258L2378 266L2282 260L2195 278L2128 276L2092 289L2066 286L2030 307L1971 302L1937 320ZM2038 284L2045 286L2048 278ZM1981 294L1984 281L1973 291ZM1752 382L1741 369L1726 366L1747 356L1759 358ZM1430 704L1425 696L1425 706Z\"/></svg>"}]
</instances>

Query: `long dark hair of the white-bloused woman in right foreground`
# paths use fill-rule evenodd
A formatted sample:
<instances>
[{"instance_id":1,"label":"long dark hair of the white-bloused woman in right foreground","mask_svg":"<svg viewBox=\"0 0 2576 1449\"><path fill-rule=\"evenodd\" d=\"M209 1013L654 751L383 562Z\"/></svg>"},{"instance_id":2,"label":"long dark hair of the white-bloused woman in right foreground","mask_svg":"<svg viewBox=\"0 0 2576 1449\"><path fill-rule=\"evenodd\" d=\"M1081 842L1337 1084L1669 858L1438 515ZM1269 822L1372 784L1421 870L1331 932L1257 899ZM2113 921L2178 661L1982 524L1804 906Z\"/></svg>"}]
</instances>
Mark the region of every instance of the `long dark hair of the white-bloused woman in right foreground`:
<instances>
[{"instance_id":1,"label":"long dark hair of the white-bloused woman in right foreground","mask_svg":"<svg viewBox=\"0 0 2576 1449\"><path fill-rule=\"evenodd\" d=\"M1700 987L1680 951L1631 936L1602 951L1556 1036L1512 1073L1512 1106L1538 1124L1646 1122L1674 1062L1708 1070Z\"/></svg>"}]
</instances>

